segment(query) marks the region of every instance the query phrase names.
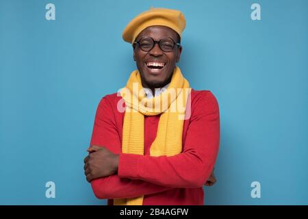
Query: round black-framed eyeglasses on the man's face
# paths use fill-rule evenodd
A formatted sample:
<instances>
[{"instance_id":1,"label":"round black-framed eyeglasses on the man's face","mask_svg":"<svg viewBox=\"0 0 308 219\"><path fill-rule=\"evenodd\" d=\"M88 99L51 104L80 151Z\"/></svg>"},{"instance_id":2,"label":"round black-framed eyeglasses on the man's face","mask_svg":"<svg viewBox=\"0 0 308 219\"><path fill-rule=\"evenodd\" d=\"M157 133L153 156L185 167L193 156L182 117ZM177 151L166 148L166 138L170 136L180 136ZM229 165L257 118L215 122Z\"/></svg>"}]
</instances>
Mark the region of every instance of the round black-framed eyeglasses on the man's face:
<instances>
[{"instance_id":1,"label":"round black-framed eyeglasses on the man's face","mask_svg":"<svg viewBox=\"0 0 308 219\"><path fill-rule=\"evenodd\" d=\"M159 41L156 41L151 37L141 38L140 40L133 42L133 44L138 44L140 49L145 52L151 51L155 47L155 44L158 44L159 48L164 52L172 51L175 48L175 45L181 46L179 42L176 43L171 38L163 38Z\"/></svg>"}]
</instances>

